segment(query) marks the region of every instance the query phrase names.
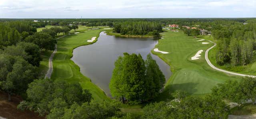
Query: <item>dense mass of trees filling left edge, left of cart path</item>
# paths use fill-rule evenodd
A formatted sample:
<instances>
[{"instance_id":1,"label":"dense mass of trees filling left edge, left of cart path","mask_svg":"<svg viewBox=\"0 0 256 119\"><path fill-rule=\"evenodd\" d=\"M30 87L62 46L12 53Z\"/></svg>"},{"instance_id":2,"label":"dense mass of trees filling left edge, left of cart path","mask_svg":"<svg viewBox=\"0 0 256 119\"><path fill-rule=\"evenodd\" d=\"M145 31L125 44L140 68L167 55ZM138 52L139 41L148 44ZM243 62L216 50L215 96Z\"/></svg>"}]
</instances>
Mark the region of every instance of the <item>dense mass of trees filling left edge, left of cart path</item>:
<instances>
[{"instance_id":1,"label":"dense mass of trees filling left edge, left of cart path","mask_svg":"<svg viewBox=\"0 0 256 119\"><path fill-rule=\"evenodd\" d=\"M56 39L36 32L27 21L0 23L0 90L26 97L28 84L39 77L41 51L54 50Z\"/></svg>"}]
</instances>

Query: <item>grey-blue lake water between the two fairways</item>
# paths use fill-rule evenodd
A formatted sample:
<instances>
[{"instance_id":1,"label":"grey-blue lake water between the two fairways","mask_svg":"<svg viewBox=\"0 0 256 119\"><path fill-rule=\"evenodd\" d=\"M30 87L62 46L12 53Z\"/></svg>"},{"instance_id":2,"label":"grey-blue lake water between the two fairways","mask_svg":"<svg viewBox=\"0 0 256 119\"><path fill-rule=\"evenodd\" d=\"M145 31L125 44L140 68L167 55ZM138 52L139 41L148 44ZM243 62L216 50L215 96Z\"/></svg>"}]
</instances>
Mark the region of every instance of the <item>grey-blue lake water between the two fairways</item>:
<instances>
[{"instance_id":1,"label":"grey-blue lake water between the two fairways","mask_svg":"<svg viewBox=\"0 0 256 119\"><path fill-rule=\"evenodd\" d=\"M71 60L80 67L80 72L84 76L104 90L106 95L111 96L108 84L118 56L123 56L124 52L140 53L145 60L157 43L158 41L153 38L122 38L101 32L96 43L74 49ZM158 56L151 56L156 60L166 79L170 78L170 66Z\"/></svg>"}]
</instances>

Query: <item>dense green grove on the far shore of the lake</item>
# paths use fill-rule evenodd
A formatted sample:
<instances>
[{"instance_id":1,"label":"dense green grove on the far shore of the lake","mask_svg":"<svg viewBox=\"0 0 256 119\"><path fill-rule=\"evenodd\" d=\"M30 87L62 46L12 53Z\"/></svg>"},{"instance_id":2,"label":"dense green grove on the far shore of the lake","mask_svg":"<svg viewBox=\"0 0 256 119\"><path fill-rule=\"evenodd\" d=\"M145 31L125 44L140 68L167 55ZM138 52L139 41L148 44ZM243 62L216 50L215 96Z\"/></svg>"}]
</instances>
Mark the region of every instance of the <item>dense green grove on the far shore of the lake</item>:
<instances>
[{"instance_id":1,"label":"dense green grove on the far shore of the lake","mask_svg":"<svg viewBox=\"0 0 256 119\"><path fill-rule=\"evenodd\" d=\"M122 22L114 25L114 31L121 35L159 35L162 26L157 22Z\"/></svg>"}]
</instances>

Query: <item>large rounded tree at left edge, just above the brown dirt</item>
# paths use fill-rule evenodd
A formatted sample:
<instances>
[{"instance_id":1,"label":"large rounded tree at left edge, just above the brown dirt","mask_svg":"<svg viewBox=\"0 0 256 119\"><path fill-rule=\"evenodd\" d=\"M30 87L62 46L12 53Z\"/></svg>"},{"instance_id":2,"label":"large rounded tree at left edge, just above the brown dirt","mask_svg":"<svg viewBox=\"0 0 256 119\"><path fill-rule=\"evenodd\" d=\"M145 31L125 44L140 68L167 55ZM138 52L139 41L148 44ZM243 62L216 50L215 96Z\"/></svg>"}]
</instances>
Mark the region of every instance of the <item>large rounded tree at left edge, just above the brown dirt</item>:
<instances>
[{"instance_id":1,"label":"large rounded tree at left edge, just above the brown dirt","mask_svg":"<svg viewBox=\"0 0 256 119\"><path fill-rule=\"evenodd\" d=\"M36 68L22 57L0 55L0 89L8 93L8 100L12 94L23 94L36 76Z\"/></svg>"}]
</instances>

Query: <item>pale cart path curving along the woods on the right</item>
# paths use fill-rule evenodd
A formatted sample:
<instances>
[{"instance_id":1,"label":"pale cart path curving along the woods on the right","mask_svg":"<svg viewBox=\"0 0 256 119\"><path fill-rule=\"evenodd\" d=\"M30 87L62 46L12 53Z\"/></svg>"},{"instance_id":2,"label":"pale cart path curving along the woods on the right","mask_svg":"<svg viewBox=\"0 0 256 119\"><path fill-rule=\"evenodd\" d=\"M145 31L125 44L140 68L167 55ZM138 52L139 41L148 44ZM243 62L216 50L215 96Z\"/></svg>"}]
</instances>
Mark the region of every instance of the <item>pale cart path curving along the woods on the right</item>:
<instances>
[{"instance_id":1,"label":"pale cart path curving along the woods on the right","mask_svg":"<svg viewBox=\"0 0 256 119\"><path fill-rule=\"evenodd\" d=\"M211 43L214 43L214 42L212 42L212 41L210 41L210 40L208 40L208 41L211 42ZM220 68L215 67L215 66L210 62L210 60L208 59L208 52L209 52L212 48L214 48L216 45L217 45L217 44L214 43L214 45L213 45L212 47L210 47L209 49L207 49L207 50L205 51L205 60L206 60L206 62L209 64L209 66L211 66L211 67L214 68L215 70L218 70L218 71L221 71L221 72L225 72L225 73L228 73L228 74L233 74L233 75L237 75L237 76L249 76L249 77L256 78L256 76L253 76L253 75L239 74L239 73L230 72L230 71L223 70L223 69L220 69Z\"/></svg>"}]
</instances>

